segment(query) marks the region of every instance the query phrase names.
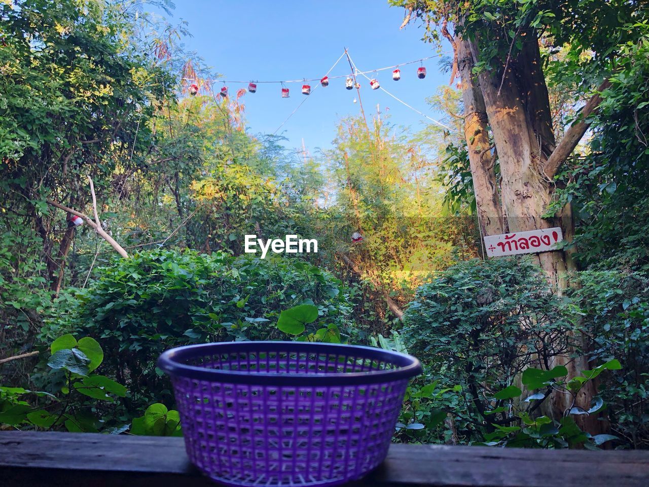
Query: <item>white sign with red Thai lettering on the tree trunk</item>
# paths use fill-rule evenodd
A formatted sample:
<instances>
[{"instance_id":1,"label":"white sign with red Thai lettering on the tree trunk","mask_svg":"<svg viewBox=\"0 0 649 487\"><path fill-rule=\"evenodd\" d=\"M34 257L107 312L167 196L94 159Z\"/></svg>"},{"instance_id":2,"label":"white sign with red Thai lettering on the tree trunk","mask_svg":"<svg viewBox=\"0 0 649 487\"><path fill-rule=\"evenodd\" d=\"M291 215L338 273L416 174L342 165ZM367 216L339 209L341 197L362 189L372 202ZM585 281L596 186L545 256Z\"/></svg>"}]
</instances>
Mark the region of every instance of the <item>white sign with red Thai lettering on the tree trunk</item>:
<instances>
[{"instance_id":1,"label":"white sign with red Thai lettering on the tree trunk","mask_svg":"<svg viewBox=\"0 0 649 487\"><path fill-rule=\"evenodd\" d=\"M553 229L532 230L529 232L504 233L485 236L485 250L489 257L502 255L533 254L556 249L556 244L563 240L559 227Z\"/></svg>"}]
</instances>

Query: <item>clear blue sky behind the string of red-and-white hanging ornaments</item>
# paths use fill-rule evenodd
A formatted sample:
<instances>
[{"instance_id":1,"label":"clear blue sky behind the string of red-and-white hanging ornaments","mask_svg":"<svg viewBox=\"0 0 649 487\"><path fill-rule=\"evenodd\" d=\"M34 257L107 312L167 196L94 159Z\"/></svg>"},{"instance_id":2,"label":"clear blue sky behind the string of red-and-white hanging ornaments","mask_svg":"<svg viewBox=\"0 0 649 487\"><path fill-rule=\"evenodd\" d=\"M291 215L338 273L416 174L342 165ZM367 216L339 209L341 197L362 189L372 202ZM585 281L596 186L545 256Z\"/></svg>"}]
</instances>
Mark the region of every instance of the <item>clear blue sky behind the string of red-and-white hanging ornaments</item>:
<instances>
[{"instance_id":1,"label":"clear blue sky behind the string of red-and-white hanging ornaments","mask_svg":"<svg viewBox=\"0 0 649 487\"><path fill-rule=\"evenodd\" d=\"M171 23L188 21L192 37L186 49L197 51L206 64L228 80L289 80L321 77L349 50L361 71L384 68L426 56L437 55L434 47L421 41L422 29L409 25L399 31L404 11L377 0L183 0L176 1ZM419 64L403 66L401 80L392 80L392 70L379 71L381 86L409 105L435 118L425 103L437 86L448 83L448 74L439 72L438 59L424 63L428 74L417 78ZM347 75L349 63L343 58L330 75ZM360 112L354 104L356 90L345 90L345 79L332 80L327 88L315 88L309 99L280 129L288 138L287 147L300 147L302 138L313 154L317 147L330 147L336 136L337 120ZM215 88L222 86L215 85ZM234 94L244 84L228 84ZM249 131L273 133L300 104L302 83L287 87L290 97L282 99L279 84L258 84L255 94L246 94ZM367 116L377 103L391 123L420 129L427 122L381 90L371 90L361 79L361 100ZM389 110L386 111L386 107Z\"/></svg>"}]
</instances>

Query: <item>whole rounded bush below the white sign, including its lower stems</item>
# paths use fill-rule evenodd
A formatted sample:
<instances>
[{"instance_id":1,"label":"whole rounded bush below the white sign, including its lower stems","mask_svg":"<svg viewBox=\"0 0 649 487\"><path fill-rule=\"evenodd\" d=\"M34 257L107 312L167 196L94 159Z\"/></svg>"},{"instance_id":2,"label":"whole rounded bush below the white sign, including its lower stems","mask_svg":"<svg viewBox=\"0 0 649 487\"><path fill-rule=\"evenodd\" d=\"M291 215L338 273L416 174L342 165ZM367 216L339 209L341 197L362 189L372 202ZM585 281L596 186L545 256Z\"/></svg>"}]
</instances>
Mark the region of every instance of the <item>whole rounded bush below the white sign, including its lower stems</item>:
<instances>
[{"instance_id":1,"label":"whole rounded bush below the white sign, including its lower stems","mask_svg":"<svg viewBox=\"0 0 649 487\"><path fill-rule=\"evenodd\" d=\"M458 388L459 407L447 405L454 427L467 441L478 440L493 430L489 423L508 421L498 410L485 422L488 398L530 366L550 368L552 357L569 349L572 325L562 311L565 303L530 260L474 259L417 290L402 336L440 390Z\"/></svg>"}]
</instances>

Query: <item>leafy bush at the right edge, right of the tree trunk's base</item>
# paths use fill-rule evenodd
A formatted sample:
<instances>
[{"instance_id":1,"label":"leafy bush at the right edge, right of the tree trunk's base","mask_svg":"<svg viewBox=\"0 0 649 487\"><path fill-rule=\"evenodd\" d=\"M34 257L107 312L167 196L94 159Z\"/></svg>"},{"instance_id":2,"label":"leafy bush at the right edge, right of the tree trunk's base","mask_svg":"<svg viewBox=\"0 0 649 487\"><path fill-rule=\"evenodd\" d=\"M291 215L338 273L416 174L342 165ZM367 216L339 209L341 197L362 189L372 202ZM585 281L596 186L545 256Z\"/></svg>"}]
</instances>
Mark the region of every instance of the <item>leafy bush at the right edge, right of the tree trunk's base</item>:
<instances>
[{"instance_id":1,"label":"leafy bush at the right edge, right of the tree trunk's base","mask_svg":"<svg viewBox=\"0 0 649 487\"><path fill-rule=\"evenodd\" d=\"M622 368L600 382L611 427L631 447L649 446L649 279L624 270L579 273L573 293L594 360L618 357Z\"/></svg>"}]
</instances>

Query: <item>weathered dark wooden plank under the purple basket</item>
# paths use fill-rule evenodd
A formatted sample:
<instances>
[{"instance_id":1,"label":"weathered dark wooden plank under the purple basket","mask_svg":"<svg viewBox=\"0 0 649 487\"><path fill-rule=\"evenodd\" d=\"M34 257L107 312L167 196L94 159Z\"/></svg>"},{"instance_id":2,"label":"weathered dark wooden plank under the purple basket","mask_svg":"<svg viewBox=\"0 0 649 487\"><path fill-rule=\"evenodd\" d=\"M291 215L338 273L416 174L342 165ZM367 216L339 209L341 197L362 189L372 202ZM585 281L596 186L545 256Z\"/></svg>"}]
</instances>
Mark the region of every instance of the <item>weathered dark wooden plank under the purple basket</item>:
<instances>
[{"instance_id":1,"label":"weathered dark wooden plank under the purple basket","mask_svg":"<svg viewBox=\"0 0 649 487\"><path fill-rule=\"evenodd\" d=\"M356 486L649 485L649 451L546 451L392 445ZM1 486L207 487L182 438L0 432Z\"/></svg>"}]
</instances>

